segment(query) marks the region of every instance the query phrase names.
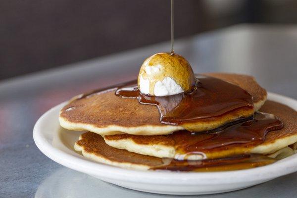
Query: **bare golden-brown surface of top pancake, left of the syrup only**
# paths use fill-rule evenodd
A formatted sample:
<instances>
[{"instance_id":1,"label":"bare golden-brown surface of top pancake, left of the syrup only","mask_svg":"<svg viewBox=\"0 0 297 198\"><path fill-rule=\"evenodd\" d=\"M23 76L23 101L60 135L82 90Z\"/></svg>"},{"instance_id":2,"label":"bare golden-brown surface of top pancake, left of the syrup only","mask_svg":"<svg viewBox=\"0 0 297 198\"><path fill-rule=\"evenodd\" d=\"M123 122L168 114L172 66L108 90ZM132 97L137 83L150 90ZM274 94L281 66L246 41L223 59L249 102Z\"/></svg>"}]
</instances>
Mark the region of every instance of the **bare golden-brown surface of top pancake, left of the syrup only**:
<instances>
[{"instance_id":1,"label":"bare golden-brown surface of top pancake, left of the syrup only","mask_svg":"<svg viewBox=\"0 0 297 198\"><path fill-rule=\"evenodd\" d=\"M72 107L74 109L67 111ZM60 116L70 122L97 127L164 125L159 121L156 106L139 104L136 99L122 99L115 96L114 91L74 100L61 110Z\"/></svg>"}]
</instances>

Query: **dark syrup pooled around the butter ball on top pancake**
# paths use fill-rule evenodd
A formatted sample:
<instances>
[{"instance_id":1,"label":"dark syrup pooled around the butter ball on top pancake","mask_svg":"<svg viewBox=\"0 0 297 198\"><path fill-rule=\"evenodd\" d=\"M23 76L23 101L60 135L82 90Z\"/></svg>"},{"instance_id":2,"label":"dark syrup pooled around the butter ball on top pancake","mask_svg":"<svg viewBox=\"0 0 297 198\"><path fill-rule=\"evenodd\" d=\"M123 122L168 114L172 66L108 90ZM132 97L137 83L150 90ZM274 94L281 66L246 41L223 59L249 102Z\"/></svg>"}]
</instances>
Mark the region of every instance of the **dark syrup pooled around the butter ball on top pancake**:
<instances>
[{"instance_id":1,"label":"dark syrup pooled around the butter ball on top pancake","mask_svg":"<svg viewBox=\"0 0 297 198\"><path fill-rule=\"evenodd\" d=\"M137 84L120 87L115 95L122 98L137 98L142 104L156 105L160 121L179 125L203 119L213 120L232 111L253 109L251 95L239 86L226 81L198 75L198 83L191 93L154 97L142 95Z\"/></svg>"}]
</instances>

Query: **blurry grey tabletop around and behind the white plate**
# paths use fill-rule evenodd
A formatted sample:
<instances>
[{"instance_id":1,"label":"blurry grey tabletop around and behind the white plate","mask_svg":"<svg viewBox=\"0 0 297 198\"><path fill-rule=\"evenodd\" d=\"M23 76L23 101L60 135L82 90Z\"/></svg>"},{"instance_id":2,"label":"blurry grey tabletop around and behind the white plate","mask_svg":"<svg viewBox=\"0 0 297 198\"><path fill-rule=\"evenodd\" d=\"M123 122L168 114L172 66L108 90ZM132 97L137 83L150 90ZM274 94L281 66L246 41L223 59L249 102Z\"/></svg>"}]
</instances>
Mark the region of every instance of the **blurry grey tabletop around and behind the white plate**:
<instances>
[{"instance_id":1,"label":"blurry grey tabletop around and behind the white plate","mask_svg":"<svg viewBox=\"0 0 297 198\"><path fill-rule=\"evenodd\" d=\"M65 168L32 138L36 120L50 107L134 79L145 57L169 49L166 42L0 82L0 198L174 197L124 189ZM297 99L297 26L237 25L179 39L175 51L195 72L251 74L268 91ZM193 197L292 198L296 186L293 173L236 192Z\"/></svg>"}]
</instances>

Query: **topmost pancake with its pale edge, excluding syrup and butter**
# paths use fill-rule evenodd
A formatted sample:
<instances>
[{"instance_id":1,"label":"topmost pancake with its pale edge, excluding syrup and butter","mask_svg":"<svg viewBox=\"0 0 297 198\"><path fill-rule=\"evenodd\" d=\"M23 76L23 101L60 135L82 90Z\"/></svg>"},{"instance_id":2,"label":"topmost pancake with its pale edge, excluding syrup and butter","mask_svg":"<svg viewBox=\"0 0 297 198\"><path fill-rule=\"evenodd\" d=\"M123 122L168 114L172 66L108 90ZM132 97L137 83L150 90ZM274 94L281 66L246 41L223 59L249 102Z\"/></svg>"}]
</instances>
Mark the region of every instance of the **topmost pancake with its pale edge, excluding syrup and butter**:
<instances>
[{"instance_id":1,"label":"topmost pancake with its pale edge, excluding syrup and butter","mask_svg":"<svg viewBox=\"0 0 297 198\"><path fill-rule=\"evenodd\" d=\"M266 100L266 91L251 76L216 73L206 75L217 75L217 78L224 79L247 90L253 97L254 110L258 110ZM115 96L115 90L116 88L111 88L100 94L71 100L60 111L60 125L69 130L85 130L100 135L124 133L132 135L164 135L184 129L181 125L161 123L156 106L140 104L136 99L119 98ZM217 128L252 114L252 109L238 110L211 119L201 119L191 124L195 127L195 131L199 132Z\"/></svg>"}]
</instances>

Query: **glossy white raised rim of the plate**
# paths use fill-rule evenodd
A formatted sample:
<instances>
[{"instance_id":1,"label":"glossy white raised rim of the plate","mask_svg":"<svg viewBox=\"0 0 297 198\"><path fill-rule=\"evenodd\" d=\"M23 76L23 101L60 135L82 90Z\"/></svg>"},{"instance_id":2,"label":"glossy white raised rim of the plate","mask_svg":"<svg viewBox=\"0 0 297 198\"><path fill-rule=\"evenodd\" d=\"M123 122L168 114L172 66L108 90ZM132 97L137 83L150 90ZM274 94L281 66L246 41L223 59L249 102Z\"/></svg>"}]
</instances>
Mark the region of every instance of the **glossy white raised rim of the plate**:
<instances>
[{"instance_id":1,"label":"glossy white raised rim of the plate","mask_svg":"<svg viewBox=\"0 0 297 198\"><path fill-rule=\"evenodd\" d=\"M297 100L286 96L268 92L269 100L286 104L297 110ZM53 161L68 168L84 172L99 178L108 180L115 179L126 182L140 182L142 184L168 184L168 185L209 185L209 184L232 184L239 182L254 182L269 180L297 171L297 154L288 158L290 160L278 161L270 165L235 171L219 172L172 172L172 171L151 171L151 170L132 170L101 164L91 161L85 157L78 157L64 152L52 146L45 134L42 132L43 122L55 111L61 109L67 101L62 102L45 112L36 122L33 129L33 139L36 146ZM56 119L57 121L57 119ZM55 134L55 133L52 133ZM52 135L54 136L54 135ZM53 139L53 137L52 137ZM74 151L73 151L74 152ZM77 154L77 153L76 153ZM288 159L286 158L286 159ZM282 170L282 171L276 171ZM108 173L108 174L107 174ZM271 175L273 173L273 175ZM131 175L133 177L131 177ZM244 179L243 179L244 178Z\"/></svg>"}]
</instances>

